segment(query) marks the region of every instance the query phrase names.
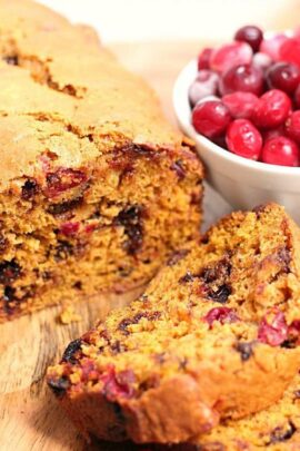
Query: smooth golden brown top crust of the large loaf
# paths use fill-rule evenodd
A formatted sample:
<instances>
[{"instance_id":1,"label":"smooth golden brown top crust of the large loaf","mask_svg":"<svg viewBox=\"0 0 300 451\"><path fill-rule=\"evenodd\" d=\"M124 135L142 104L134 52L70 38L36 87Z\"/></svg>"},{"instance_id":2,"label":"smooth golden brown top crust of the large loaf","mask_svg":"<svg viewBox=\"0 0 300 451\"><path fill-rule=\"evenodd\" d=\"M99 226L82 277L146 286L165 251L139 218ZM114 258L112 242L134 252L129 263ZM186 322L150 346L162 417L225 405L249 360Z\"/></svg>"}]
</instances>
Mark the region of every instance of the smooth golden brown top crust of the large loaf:
<instances>
[{"instance_id":1,"label":"smooth golden brown top crust of the large loaf","mask_svg":"<svg viewBox=\"0 0 300 451\"><path fill-rule=\"evenodd\" d=\"M1 160L13 146L13 155L2 166L3 187L32 170L41 153L30 145L32 135L39 139L40 124L27 125L18 116L54 118L60 129L71 126L79 137L92 136L98 153L128 140L158 150L181 147L182 136L167 124L153 91L120 67L89 28L71 26L30 0L1 0L0 36L2 57L17 62L16 67L0 63L0 127L18 128L20 120L22 137L13 141L1 134Z\"/></svg>"}]
</instances>

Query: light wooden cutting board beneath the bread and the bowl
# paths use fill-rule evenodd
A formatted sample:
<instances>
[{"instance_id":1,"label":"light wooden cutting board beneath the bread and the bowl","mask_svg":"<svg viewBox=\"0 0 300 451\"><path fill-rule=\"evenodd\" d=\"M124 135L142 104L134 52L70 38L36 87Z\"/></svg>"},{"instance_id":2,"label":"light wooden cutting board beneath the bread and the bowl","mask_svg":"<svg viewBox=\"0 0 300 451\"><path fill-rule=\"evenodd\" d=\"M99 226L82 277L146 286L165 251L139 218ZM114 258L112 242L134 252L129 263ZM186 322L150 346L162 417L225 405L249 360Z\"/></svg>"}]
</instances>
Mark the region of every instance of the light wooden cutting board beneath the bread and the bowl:
<instances>
[{"instance_id":1,"label":"light wooden cutting board beneath the bread and the bowl","mask_svg":"<svg viewBox=\"0 0 300 451\"><path fill-rule=\"evenodd\" d=\"M171 90L179 70L197 55L200 43L119 45L112 50L126 66L144 76L157 89L170 120L174 121ZM213 198L213 202L211 202ZM229 210L220 197L208 190L206 222ZM76 306L82 320L70 325L57 321L59 307L48 308L0 325L0 450L82 451L91 449L58 408L44 384L44 372L66 345L107 314L137 296L100 297ZM121 447L121 445L120 445ZM106 447L98 445L104 451ZM117 448L121 450L122 448Z\"/></svg>"}]
</instances>

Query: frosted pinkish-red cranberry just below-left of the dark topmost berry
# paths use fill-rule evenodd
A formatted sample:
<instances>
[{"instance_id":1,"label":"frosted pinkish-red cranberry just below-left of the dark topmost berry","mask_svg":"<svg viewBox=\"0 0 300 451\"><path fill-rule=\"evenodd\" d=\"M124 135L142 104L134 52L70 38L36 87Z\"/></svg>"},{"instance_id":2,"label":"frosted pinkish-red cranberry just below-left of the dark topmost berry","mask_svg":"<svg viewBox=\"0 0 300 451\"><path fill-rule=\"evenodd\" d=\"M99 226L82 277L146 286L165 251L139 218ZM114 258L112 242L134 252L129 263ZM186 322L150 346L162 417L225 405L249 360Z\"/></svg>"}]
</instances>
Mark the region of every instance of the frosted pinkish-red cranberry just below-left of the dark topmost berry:
<instances>
[{"instance_id":1,"label":"frosted pinkish-red cranberry just below-left of the dark topmost berry","mask_svg":"<svg viewBox=\"0 0 300 451\"><path fill-rule=\"evenodd\" d=\"M224 72L233 66L250 63L252 55L252 49L247 42L226 43L212 51L210 68L217 72Z\"/></svg>"}]
</instances>

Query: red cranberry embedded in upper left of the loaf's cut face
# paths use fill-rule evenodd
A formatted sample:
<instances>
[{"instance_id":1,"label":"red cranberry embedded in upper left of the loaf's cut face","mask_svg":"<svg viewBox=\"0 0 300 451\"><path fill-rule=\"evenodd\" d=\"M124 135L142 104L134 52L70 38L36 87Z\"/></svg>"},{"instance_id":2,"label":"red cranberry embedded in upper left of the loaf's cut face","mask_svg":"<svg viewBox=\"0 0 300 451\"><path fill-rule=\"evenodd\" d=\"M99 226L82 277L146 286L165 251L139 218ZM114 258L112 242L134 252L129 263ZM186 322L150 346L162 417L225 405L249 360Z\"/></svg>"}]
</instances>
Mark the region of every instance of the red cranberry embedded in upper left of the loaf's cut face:
<instances>
[{"instance_id":1,"label":"red cranberry embedded in upper left of the loaf's cut face","mask_svg":"<svg viewBox=\"0 0 300 451\"><path fill-rule=\"evenodd\" d=\"M87 182L87 174L79 169L59 168L47 174L46 194L56 197L67 189L74 188Z\"/></svg>"}]
</instances>

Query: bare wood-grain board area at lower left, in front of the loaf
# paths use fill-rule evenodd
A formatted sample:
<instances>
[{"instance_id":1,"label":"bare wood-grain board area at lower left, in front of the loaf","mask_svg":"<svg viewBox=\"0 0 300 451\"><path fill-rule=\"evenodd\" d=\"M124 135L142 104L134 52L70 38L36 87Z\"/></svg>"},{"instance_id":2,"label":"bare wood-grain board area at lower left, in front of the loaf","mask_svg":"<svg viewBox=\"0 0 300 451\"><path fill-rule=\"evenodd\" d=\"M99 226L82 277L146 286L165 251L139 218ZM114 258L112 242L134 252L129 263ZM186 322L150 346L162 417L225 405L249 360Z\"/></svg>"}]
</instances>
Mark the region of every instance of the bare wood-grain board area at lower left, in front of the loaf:
<instances>
[{"instance_id":1,"label":"bare wood-grain board area at lower left, in front of the loaf","mask_svg":"<svg viewBox=\"0 0 300 451\"><path fill-rule=\"evenodd\" d=\"M59 307L0 325L1 451L88 449L46 386L44 372L70 340L87 331L110 307L136 295L138 292L81 302L76 311L82 320L70 325L58 322Z\"/></svg>"}]
</instances>

